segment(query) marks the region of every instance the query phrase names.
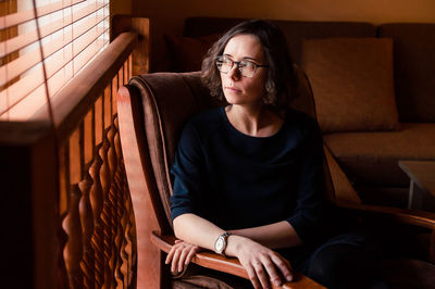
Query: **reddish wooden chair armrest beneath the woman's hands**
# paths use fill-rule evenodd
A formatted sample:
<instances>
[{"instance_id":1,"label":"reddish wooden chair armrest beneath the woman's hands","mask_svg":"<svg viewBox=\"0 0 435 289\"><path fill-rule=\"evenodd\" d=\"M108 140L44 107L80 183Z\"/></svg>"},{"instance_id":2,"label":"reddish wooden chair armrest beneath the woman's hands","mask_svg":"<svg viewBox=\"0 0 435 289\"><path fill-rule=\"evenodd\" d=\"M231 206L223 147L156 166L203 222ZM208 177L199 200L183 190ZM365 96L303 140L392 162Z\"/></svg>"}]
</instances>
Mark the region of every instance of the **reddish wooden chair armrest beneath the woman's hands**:
<instances>
[{"instance_id":1,"label":"reddish wooden chair armrest beneath the woman's hands","mask_svg":"<svg viewBox=\"0 0 435 289\"><path fill-rule=\"evenodd\" d=\"M160 236L156 231L153 231L151 235L152 243L166 253L170 252L172 246L175 243L175 239L176 239L175 236ZM197 253L194 256L192 262L202 267L228 273L235 276L243 277L245 279L249 279L245 268L241 266L240 262L235 257L226 257L213 253L211 251L204 251ZM295 273L294 277L295 277L294 281L286 282L282 287L274 287L274 288L288 288L288 289L325 288L322 285L315 282L314 280L301 274Z\"/></svg>"}]
</instances>

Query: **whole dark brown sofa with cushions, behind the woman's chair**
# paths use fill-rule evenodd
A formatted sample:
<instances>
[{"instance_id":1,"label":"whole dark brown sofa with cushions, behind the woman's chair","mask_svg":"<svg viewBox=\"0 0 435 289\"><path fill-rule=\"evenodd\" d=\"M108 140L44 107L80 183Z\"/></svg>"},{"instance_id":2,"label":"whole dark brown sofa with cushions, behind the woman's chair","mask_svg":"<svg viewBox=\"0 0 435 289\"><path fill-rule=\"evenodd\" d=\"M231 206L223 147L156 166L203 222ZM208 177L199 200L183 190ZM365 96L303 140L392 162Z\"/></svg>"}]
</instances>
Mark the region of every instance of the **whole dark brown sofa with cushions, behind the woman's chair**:
<instances>
[{"instance_id":1,"label":"whole dark brown sofa with cushions, behind the woman's chair","mask_svg":"<svg viewBox=\"0 0 435 289\"><path fill-rule=\"evenodd\" d=\"M167 70L200 70L240 21L186 18L183 35L164 35ZM399 160L435 160L435 24L273 22L311 83L324 142L362 201L407 206Z\"/></svg>"}]
</instances>

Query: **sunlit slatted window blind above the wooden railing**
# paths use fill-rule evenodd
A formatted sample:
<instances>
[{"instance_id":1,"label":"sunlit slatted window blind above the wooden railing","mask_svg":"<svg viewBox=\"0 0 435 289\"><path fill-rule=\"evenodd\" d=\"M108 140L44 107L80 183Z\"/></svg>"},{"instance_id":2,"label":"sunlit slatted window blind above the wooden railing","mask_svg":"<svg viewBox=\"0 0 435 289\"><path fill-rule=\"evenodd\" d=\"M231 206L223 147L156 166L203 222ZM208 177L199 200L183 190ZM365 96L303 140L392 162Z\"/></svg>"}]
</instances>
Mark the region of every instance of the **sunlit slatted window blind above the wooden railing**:
<instances>
[{"instance_id":1,"label":"sunlit slatted window blind above the wooden railing","mask_svg":"<svg viewBox=\"0 0 435 289\"><path fill-rule=\"evenodd\" d=\"M25 121L109 43L109 0L0 2L0 121Z\"/></svg>"}]
</instances>

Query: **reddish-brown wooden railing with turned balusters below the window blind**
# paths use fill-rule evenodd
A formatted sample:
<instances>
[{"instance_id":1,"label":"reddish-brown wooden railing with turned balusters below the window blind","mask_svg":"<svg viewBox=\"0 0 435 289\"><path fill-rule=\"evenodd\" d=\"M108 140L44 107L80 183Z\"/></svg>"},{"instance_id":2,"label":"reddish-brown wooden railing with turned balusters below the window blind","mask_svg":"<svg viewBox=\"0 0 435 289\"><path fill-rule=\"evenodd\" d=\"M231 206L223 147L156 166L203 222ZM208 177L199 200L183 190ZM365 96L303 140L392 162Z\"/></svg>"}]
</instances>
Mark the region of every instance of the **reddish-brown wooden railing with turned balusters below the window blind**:
<instances>
[{"instance_id":1,"label":"reddish-brown wooden railing with turned balusters below the window blind","mask_svg":"<svg viewBox=\"0 0 435 289\"><path fill-rule=\"evenodd\" d=\"M0 123L2 249L10 249L2 287L135 288L116 96L133 70L147 72L132 55L138 39L148 41L148 20L140 22L139 37L120 34L51 101L52 121L47 104L28 122Z\"/></svg>"}]
</instances>

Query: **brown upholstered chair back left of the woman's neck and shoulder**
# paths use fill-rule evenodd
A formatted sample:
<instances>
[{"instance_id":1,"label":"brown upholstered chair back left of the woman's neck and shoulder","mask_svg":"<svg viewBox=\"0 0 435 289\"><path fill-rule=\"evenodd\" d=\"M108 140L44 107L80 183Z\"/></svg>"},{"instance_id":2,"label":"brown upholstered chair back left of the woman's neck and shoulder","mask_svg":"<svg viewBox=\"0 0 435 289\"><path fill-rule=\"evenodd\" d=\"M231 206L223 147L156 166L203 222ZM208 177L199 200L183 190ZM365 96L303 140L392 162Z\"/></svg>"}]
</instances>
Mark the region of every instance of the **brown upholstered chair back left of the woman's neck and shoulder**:
<instances>
[{"instance_id":1,"label":"brown upholstered chair back left of the woman's neck and shoulder","mask_svg":"<svg viewBox=\"0 0 435 289\"><path fill-rule=\"evenodd\" d=\"M210 98L196 98L198 95L208 93L198 76L199 73L159 73L133 77L129 81L129 85L136 87L142 96L146 141L156 186L169 223L171 223L169 199L172 194L169 171L174 160L178 137L187 118L200 110L212 106Z\"/></svg>"}]
</instances>

